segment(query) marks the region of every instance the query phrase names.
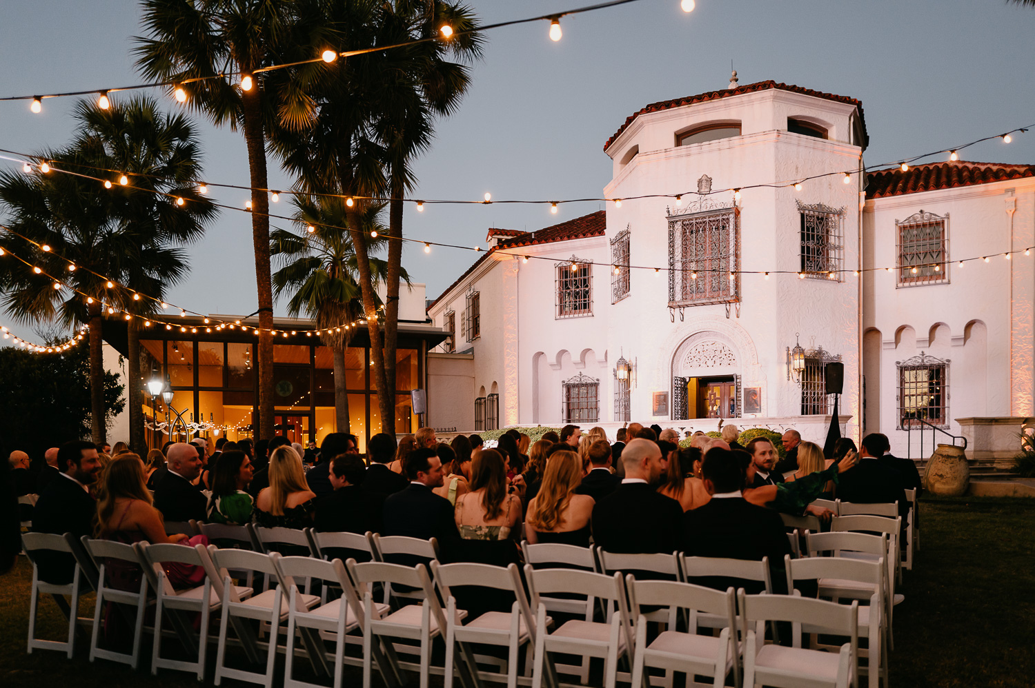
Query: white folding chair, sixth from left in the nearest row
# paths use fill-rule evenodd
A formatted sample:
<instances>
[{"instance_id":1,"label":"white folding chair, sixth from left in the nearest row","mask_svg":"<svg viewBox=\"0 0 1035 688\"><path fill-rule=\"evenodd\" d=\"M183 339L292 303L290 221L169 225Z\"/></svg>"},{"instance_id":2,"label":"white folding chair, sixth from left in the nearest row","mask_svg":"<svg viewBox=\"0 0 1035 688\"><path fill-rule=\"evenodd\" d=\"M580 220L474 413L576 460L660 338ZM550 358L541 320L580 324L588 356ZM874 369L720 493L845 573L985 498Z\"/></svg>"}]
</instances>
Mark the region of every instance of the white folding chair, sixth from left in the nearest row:
<instances>
[{"instance_id":1,"label":"white folding chair, sixth from left in the nearest row","mask_svg":"<svg viewBox=\"0 0 1035 688\"><path fill-rule=\"evenodd\" d=\"M387 638L398 637L419 641L420 663L398 662L398 666L416 670L420 677L420 688L427 688L432 672L451 672L454 669L461 671L465 686L470 685L470 671L476 669L473 668L474 658L466 648L462 648L466 666L462 666L459 662L444 668L432 666L432 640L445 632L446 621L423 564L411 568L385 562L357 564L350 559L346 562L346 568L349 577L357 587L366 587L363 594L363 688L371 688L373 647L374 642L376 640L380 642L382 637L386 638L385 645L388 650L392 646ZM416 589L421 594L421 603L409 604L388 615L382 615L378 609L383 607L375 605L369 588L376 582L384 587L394 585ZM461 618L467 616L467 612L462 610L456 610L455 614Z\"/></svg>"}]
</instances>

